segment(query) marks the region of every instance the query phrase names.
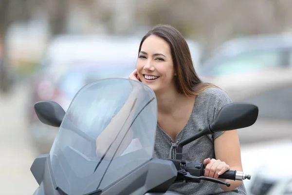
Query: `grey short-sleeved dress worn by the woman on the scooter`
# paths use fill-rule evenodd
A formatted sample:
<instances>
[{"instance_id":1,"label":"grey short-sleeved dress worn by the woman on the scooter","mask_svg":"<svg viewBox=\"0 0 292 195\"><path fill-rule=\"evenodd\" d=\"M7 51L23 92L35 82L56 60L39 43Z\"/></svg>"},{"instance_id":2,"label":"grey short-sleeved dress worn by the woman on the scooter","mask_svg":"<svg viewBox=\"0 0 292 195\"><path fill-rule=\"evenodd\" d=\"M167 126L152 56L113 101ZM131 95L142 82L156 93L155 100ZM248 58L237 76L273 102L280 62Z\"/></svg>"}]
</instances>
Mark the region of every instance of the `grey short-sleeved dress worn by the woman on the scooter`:
<instances>
[{"instance_id":1,"label":"grey short-sleeved dress worn by the woman on the scooter","mask_svg":"<svg viewBox=\"0 0 292 195\"><path fill-rule=\"evenodd\" d=\"M159 127L157 124L154 157L155 158L174 158L176 146L180 140L191 137L199 130L210 124L216 117L220 108L231 103L228 95L217 88L207 88L196 98L194 109L186 126L177 135L176 143ZM183 147L183 159L186 162L200 161L205 158L215 158L214 139L222 135L223 132L217 132L213 135L203 136ZM226 149L228 152L228 149ZM244 184L242 183L237 189L224 192L219 184L210 181L201 181L201 183L176 183L173 184L169 191L180 192L187 195L246 195Z\"/></svg>"}]
</instances>

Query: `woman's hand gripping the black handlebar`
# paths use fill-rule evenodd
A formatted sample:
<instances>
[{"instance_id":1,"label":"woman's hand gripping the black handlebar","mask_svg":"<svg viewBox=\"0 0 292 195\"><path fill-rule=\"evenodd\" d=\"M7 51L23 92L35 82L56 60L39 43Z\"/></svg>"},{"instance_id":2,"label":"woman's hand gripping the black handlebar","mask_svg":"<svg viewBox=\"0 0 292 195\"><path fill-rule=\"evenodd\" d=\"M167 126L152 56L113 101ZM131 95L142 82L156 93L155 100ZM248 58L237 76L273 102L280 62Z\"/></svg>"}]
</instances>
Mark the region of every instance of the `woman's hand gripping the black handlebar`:
<instances>
[{"instance_id":1,"label":"woman's hand gripping the black handlebar","mask_svg":"<svg viewBox=\"0 0 292 195\"><path fill-rule=\"evenodd\" d=\"M222 162L221 160L216 160L214 158L205 159L203 164L205 165L204 176L216 179L230 169L229 165L227 165L225 162Z\"/></svg>"}]
</instances>

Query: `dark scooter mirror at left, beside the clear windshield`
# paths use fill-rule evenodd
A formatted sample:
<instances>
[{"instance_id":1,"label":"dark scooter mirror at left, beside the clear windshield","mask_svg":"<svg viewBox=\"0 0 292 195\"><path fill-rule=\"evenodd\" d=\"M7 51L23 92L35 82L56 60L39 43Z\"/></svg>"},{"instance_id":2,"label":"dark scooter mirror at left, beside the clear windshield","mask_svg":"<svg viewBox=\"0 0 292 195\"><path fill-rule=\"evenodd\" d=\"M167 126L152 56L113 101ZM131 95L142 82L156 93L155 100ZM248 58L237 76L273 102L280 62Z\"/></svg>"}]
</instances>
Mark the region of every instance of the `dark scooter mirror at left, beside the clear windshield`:
<instances>
[{"instance_id":1,"label":"dark scooter mirror at left, beside the clear windshield","mask_svg":"<svg viewBox=\"0 0 292 195\"><path fill-rule=\"evenodd\" d=\"M60 127L65 116L64 109L55 101L38 101L35 112L42 123L53 127Z\"/></svg>"}]
</instances>

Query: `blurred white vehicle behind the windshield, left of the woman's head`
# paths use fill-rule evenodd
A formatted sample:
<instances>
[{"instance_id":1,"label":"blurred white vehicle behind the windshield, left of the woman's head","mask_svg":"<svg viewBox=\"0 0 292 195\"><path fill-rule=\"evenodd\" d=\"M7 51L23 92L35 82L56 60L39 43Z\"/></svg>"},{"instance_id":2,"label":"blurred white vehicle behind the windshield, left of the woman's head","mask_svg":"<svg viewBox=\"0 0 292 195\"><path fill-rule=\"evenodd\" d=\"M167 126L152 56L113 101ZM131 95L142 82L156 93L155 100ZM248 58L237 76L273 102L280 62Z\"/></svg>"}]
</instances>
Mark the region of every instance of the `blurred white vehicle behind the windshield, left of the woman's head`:
<instances>
[{"instance_id":1,"label":"blurred white vehicle behind the windshield, left of the woman's head","mask_svg":"<svg viewBox=\"0 0 292 195\"><path fill-rule=\"evenodd\" d=\"M78 61L94 61L99 66L121 61L134 68L138 46L138 39L128 37L57 36L48 44L39 68L31 76L30 107L38 100L37 90L44 77L51 75L50 81L54 82L58 75Z\"/></svg>"}]
</instances>

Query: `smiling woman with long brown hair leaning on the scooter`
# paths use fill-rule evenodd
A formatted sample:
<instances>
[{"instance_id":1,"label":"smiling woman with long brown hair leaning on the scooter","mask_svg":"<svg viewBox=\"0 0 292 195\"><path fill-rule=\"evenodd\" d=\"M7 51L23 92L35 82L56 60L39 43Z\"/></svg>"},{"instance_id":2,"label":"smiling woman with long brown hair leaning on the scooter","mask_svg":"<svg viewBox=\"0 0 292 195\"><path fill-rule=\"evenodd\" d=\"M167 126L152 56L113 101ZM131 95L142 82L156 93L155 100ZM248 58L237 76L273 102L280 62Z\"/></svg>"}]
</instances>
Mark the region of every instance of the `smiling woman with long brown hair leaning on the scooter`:
<instances>
[{"instance_id":1,"label":"smiling woman with long brown hair leaning on the scooter","mask_svg":"<svg viewBox=\"0 0 292 195\"><path fill-rule=\"evenodd\" d=\"M210 124L230 98L214 85L203 83L194 70L188 45L175 28L157 25L142 39L136 70L129 76L148 85L157 98L158 124L154 157L174 158L180 140ZM218 178L225 171L242 171L237 131L204 136L184 146L188 161L203 161L205 176ZM192 194L246 194L242 181L230 187L201 181L173 184L170 191ZM223 194L225 194L223 193Z\"/></svg>"}]
</instances>

